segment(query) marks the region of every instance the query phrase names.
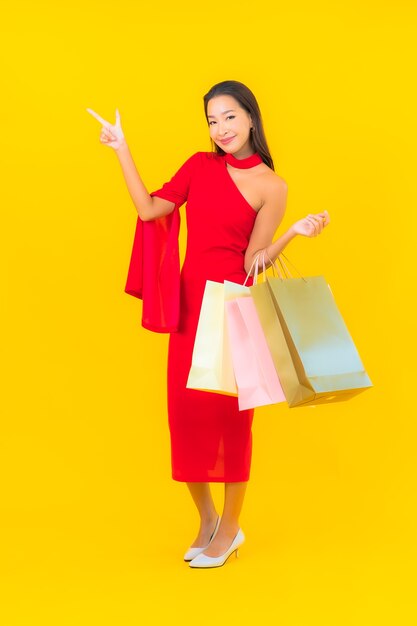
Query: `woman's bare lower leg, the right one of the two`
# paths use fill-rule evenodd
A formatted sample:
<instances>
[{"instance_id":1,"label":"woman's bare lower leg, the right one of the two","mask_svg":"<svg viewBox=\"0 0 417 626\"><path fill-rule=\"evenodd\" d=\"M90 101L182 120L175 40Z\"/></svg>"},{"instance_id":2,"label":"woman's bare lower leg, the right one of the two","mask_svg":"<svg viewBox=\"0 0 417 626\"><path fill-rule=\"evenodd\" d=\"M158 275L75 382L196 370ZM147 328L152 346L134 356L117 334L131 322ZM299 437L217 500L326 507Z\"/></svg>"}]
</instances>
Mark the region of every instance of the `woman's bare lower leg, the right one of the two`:
<instances>
[{"instance_id":1,"label":"woman's bare lower leg, the right one of the two","mask_svg":"<svg viewBox=\"0 0 417 626\"><path fill-rule=\"evenodd\" d=\"M224 507L219 530L209 547L207 556L220 556L226 552L239 530L239 515L242 510L248 482L224 484Z\"/></svg>"}]
</instances>

